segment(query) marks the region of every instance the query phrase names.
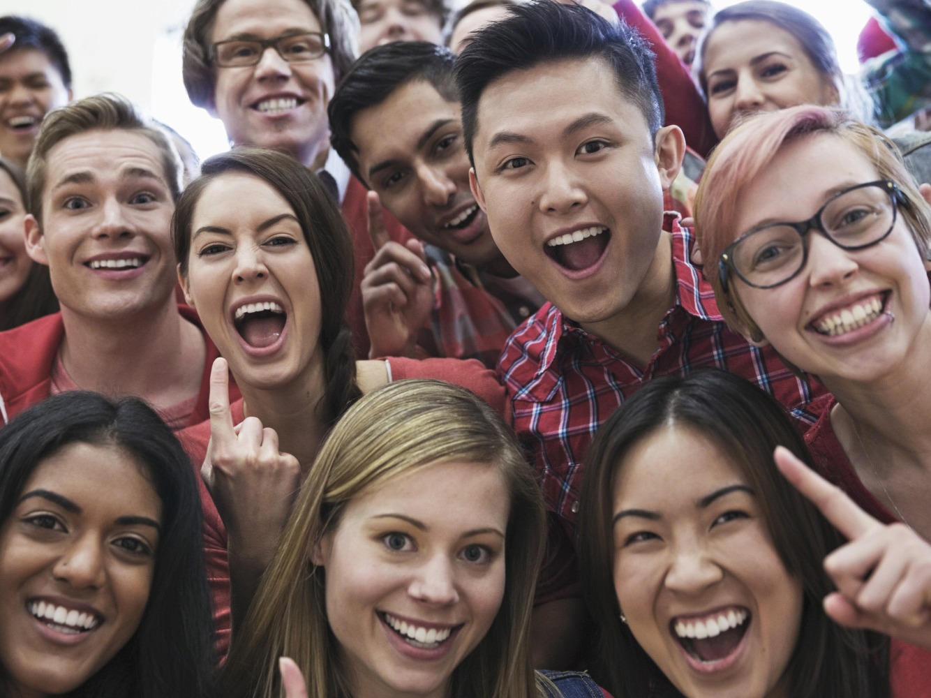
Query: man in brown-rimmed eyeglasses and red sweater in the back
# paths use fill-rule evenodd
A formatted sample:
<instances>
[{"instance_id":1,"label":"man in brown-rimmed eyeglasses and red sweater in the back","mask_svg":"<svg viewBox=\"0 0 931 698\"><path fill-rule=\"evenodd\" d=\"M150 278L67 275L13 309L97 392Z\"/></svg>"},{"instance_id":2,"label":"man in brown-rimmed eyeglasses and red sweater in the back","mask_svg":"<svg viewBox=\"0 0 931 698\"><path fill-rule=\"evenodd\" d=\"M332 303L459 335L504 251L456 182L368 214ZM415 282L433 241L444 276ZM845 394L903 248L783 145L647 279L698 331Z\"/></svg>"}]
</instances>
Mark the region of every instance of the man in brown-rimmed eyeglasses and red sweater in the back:
<instances>
[{"instance_id":1,"label":"man in brown-rimmed eyeglasses and red sweater in the back","mask_svg":"<svg viewBox=\"0 0 931 698\"><path fill-rule=\"evenodd\" d=\"M287 153L321 173L353 235L357 279L349 318L369 351L359 292L374 255L365 188L330 149L327 106L356 58L358 18L348 0L198 0L184 32L184 87L223 121L233 145ZM325 172L325 174L322 174ZM385 215L388 235L411 235Z\"/></svg>"}]
</instances>

